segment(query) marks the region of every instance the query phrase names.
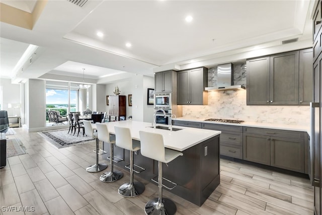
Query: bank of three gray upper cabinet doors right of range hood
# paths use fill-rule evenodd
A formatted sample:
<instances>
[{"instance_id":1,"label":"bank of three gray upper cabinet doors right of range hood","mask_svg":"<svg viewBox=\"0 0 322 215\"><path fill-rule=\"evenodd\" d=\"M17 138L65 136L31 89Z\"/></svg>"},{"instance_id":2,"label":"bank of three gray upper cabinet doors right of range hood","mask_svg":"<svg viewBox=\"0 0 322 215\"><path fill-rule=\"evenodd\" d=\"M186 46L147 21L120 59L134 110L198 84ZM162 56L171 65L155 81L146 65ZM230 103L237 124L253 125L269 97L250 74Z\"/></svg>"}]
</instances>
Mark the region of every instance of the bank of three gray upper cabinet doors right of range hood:
<instances>
[{"instance_id":1,"label":"bank of three gray upper cabinet doors right of range hood","mask_svg":"<svg viewBox=\"0 0 322 215\"><path fill-rule=\"evenodd\" d=\"M247 60L247 105L308 105L312 49Z\"/></svg>"}]
</instances>

